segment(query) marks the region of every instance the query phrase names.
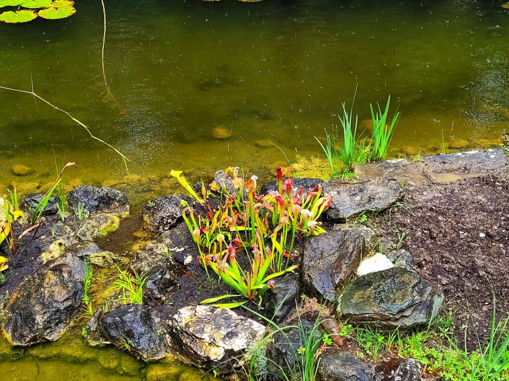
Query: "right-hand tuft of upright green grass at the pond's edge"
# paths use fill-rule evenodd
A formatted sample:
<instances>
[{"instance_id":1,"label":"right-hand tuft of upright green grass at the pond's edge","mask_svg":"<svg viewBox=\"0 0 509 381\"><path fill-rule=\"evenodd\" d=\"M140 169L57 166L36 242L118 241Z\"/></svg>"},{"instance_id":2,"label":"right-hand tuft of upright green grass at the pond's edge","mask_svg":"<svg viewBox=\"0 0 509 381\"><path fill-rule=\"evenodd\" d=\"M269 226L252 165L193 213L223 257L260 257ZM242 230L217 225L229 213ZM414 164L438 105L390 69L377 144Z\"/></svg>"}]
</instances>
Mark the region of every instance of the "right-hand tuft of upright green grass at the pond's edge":
<instances>
[{"instance_id":1,"label":"right-hand tuft of upright green grass at the pond's edge","mask_svg":"<svg viewBox=\"0 0 509 381\"><path fill-rule=\"evenodd\" d=\"M372 141L370 143L370 156L373 161L382 161L387 158L387 149L394 135L394 129L400 120L400 112L397 111L389 125L387 125L387 118L389 115L390 95L387 99L387 105L384 111L377 103L378 112L375 113L373 105L370 104L371 118L373 121Z\"/></svg>"}]
</instances>

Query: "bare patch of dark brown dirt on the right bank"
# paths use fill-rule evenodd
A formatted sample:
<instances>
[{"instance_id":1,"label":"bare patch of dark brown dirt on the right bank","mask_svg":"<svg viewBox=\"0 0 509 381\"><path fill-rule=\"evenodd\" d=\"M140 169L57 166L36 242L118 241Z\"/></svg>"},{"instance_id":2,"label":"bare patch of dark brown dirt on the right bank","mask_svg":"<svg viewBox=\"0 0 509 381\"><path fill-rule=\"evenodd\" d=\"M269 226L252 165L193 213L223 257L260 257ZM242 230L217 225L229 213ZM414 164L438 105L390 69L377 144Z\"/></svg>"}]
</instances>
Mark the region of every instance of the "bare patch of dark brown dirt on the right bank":
<instances>
[{"instance_id":1,"label":"bare patch of dark brown dirt on the right bank","mask_svg":"<svg viewBox=\"0 0 509 381\"><path fill-rule=\"evenodd\" d=\"M406 189L411 211L395 207L375 218L379 235L414 256L417 271L445 296L456 336L478 346L488 336L493 294L497 317L509 311L509 183L496 177L420 183Z\"/></svg>"}]
</instances>

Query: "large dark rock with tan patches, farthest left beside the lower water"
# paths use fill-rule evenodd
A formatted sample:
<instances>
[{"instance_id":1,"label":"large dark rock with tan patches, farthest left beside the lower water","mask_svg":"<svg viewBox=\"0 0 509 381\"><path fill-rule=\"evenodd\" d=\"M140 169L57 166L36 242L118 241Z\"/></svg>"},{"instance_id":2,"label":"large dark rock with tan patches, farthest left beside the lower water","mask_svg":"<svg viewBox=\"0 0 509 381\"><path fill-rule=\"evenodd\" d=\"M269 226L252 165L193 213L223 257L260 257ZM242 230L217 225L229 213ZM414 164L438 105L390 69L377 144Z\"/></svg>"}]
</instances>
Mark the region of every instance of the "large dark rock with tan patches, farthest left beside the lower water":
<instances>
[{"instance_id":1,"label":"large dark rock with tan patches, farthest left beside the lower water","mask_svg":"<svg viewBox=\"0 0 509 381\"><path fill-rule=\"evenodd\" d=\"M60 338L81 306L85 265L65 256L27 276L10 297L2 333L12 345Z\"/></svg>"}]
</instances>

